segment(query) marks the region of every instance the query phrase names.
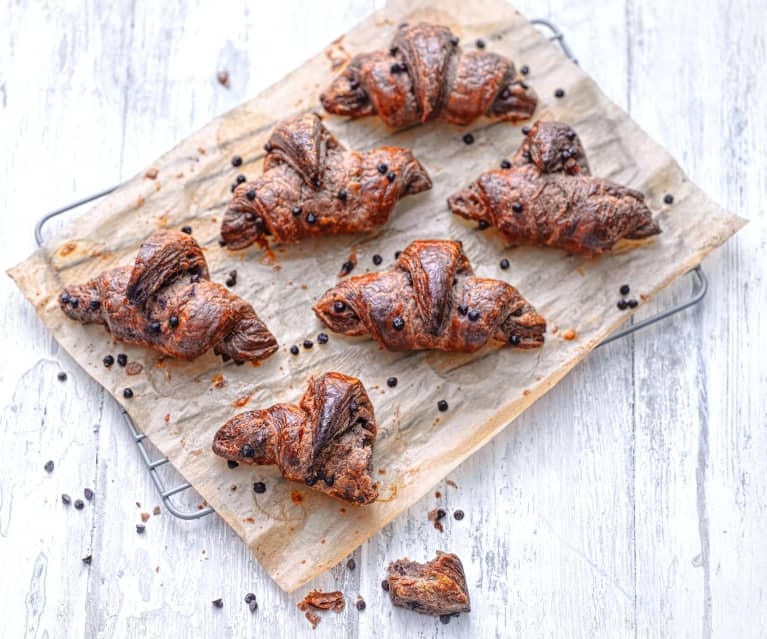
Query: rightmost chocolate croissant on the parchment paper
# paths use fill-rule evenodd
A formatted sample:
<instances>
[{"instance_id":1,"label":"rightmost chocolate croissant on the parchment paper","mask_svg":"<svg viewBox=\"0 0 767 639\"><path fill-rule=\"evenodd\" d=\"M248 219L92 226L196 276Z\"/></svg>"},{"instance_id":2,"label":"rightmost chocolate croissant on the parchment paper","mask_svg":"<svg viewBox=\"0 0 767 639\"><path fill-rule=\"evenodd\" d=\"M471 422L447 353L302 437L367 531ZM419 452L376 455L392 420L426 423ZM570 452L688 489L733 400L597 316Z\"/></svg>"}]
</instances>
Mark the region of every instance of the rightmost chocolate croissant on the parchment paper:
<instances>
[{"instance_id":1,"label":"rightmost chocolate croissant on the parchment paper","mask_svg":"<svg viewBox=\"0 0 767 639\"><path fill-rule=\"evenodd\" d=\"M487 171L447 200L451 211L482 227L494 226L513 244L599 255L623 238L657 235L644 195L592 177L575 132L538 122L512 167Z\"/></svg>"}]
</instances>

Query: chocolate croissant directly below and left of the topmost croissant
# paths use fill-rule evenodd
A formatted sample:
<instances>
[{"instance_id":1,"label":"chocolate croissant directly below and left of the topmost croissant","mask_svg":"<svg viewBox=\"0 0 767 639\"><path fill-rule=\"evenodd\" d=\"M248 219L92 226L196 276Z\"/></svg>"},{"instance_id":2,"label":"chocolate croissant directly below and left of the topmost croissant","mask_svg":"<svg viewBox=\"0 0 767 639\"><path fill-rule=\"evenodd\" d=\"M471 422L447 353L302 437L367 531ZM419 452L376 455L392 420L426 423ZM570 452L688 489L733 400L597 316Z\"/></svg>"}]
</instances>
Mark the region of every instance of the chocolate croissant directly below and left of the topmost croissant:
<instances>
[{"instance_id":1,"label":"chocolate croissant directly below and left of the topmost croissant","mask_svg":"<svg viewBox=\"0 0 767 639\"><path fill-rule=\"evenodd\" d=\"M369 231L386 223L397 200L431 188L409 150L347 151L315 114L280 122L265 148L264 174L235 188L224 215L221 237L231 249L267 235L297 242Z\"/></svg>"}]
</instances>

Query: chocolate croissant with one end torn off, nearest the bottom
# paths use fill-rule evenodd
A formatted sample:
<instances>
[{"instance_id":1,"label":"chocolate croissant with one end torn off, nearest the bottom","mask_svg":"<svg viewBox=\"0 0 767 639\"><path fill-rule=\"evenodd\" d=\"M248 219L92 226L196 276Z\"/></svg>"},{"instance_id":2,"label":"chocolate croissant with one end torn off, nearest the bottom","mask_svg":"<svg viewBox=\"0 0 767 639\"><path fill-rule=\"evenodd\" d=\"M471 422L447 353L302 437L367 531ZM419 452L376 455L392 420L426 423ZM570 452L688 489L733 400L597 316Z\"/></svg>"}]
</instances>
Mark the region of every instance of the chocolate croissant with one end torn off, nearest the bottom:
<instances>
[{"instance_id":1,"label":"chocolate croissant with one end torn off, nearest the bottom","mask_svg":"<svg viewBox=\"0 0 767 639\"><path fill-rule=\"evenodd\" d=\"M358 379L326 373L309 379L298 406L276 404L230 419L213 452L243 464L276 464L285 479L355 504L378 497L371 478L377 427Z\"/></svg>"}]
</instances>

